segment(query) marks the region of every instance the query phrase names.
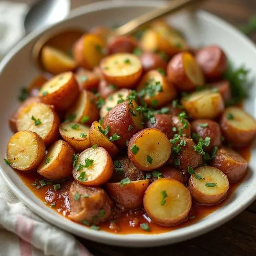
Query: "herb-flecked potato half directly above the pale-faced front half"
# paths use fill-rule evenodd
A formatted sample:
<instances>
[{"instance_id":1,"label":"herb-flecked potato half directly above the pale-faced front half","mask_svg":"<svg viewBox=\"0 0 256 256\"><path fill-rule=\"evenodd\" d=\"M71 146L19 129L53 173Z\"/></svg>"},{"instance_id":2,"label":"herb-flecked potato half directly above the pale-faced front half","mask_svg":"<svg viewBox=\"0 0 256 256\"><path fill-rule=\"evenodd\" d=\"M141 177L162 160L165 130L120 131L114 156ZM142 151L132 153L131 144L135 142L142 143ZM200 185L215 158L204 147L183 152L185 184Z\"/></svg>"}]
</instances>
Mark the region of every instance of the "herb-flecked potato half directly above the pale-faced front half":
<instances>
[{"instance_id":1,"label":"herb-flecked potato half directly above the pale-faced front half","mask_svg":"<svg viewBox=\"0 0 256 256\"><path fill-rule=\"evenodd\" d=\"M59 133L77 152L82 152L90 147L90 127L84 124L70 122L59 125Z\"/></svg>"}]
</instances>

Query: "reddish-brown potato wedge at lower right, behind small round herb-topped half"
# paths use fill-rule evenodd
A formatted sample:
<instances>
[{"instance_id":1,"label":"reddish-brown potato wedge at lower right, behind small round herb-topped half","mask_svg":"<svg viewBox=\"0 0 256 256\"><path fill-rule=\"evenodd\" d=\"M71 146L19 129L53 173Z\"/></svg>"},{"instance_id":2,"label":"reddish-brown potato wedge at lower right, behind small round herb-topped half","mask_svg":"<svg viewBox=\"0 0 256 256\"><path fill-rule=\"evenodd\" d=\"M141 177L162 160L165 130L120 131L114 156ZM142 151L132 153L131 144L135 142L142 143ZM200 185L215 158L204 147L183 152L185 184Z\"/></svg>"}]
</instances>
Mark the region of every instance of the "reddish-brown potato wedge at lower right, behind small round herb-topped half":
<instances>
[{"instance_id":1,"label":"reddish-brown potato wedge at lower right, behind small round herb-topped half","mask_svg":"<svg viewBox=\"0 0 256 256\"><path fill-rule=\"evenodd\" d=\"M222 146L210 165L222 170L229 182L237 182L244 177L248 163L238 152Z\"/></svg>"}]
</instances>

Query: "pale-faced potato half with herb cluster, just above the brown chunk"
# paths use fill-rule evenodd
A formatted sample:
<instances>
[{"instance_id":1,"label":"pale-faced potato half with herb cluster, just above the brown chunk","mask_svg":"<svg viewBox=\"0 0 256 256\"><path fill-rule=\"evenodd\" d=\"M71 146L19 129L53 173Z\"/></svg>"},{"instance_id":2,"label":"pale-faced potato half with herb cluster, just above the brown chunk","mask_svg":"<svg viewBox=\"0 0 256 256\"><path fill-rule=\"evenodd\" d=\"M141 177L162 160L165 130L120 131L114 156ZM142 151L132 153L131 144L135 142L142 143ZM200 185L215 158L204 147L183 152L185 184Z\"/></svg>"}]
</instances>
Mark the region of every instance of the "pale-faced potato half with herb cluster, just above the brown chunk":
<instances>
[{"instance_id":1,"label":"pale-faced potato half with herb cluster, just above the brown chunk","mask_svg":"<svg viewBox=\"0 0 256 256\"><path fill-rule=\"evenodd\" d=\"M73 169L74 179L87 186L100 186L113 174L113 161L103 147L89 147L81 152Z\"/></svg>"}]
</instances>

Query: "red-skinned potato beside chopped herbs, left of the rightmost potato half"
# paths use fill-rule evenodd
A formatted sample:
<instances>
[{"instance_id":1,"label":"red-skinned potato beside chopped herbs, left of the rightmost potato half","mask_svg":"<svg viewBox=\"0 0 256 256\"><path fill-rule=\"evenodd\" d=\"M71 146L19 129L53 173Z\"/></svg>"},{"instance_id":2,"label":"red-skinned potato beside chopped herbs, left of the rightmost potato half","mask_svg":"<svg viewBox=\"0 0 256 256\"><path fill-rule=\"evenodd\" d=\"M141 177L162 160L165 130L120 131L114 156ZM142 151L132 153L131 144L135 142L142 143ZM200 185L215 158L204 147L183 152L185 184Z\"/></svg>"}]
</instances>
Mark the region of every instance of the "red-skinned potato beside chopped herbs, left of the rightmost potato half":
<instances>
[{"instance_id":1,"label":"red-skinned potato beside chopped herbs, left of the rightmost potato half","mask_svg":"<svg viewBox=\"0 0 256 256\"><path fill-rule=\"evenodd\" d=\"M207 127L201 127L200 124L207 123ZM209 152L211 148L221 145L221 128L220 125L210 119L197 119L191 122L192 133L198 134L202 139L210 138L210 144L204 147L204 151Z\"/></svg>"}]
</instances>

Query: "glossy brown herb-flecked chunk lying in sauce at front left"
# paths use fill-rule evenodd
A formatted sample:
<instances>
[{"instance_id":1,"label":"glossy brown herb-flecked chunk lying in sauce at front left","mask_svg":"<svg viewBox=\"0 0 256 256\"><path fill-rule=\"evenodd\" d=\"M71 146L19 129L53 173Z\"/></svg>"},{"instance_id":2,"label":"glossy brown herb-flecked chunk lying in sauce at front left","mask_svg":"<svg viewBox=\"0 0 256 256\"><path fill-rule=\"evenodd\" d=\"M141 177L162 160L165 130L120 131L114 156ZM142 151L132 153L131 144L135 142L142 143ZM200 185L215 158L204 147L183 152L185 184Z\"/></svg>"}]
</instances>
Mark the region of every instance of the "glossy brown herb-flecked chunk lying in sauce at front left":
<instances>
[{"instance_id":1,"label":"glossy brown herb-flecked chunk lying in sauce at front left","mask_svg":"<svg viewBox=\"0 0 256 256\"><path fill-rule=\"evenodd\" d=\"M113 203L99 187L72 182L69 190L71 212L69 218L84 224L97 225L111 217Z\"/></svg>"}]
</instances>

